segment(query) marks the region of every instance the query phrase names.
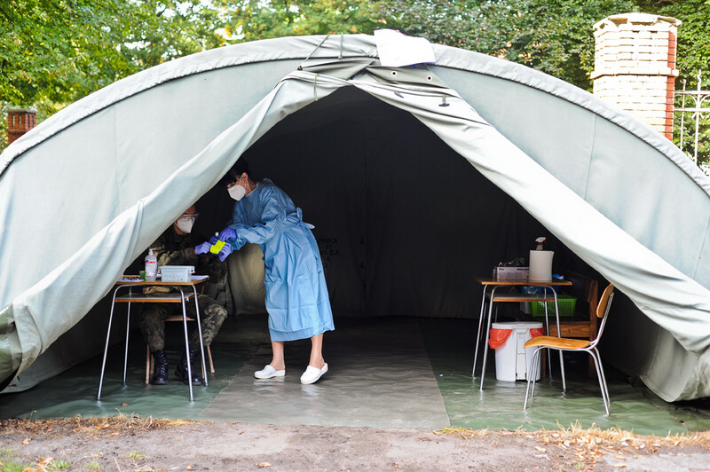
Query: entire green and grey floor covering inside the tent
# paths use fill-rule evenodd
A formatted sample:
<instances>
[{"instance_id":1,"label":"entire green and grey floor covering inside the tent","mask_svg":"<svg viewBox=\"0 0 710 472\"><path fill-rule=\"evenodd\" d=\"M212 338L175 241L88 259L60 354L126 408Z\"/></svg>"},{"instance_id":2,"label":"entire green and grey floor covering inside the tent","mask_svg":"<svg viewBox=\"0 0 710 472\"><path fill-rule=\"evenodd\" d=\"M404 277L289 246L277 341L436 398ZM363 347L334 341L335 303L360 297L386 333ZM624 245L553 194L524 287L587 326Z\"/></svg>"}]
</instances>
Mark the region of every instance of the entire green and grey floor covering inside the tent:
<instances>
[{"instance_id":1,"label":"entire green and grey floor covering inside the tent","mask_svg":"<svg viewBox=\"0 0 710 472\"><path fill-rule=\"evenodd\" d=\"M335 332L324 336L327 374L317 383L301 385L310 341L286 344L286 377L259 381L253 372L271 359L266 316L229 317L211 346L216 373L209 374L209 386L194 388L190 402L187 386L172 376L184 349L177 325L168 326L168 385L145 384L146 344L135 332L130 337L125 386L120 342L109 349L101 401L96 400L102 360L97 356L33 389L3 394L0 418L123 413L419 429L533 430L578 424L664 436L710 429L706 402L668 404L608 365L611 415L606 416L596 378L587 376L587 358L577 355L565 356L567 391L562 391L553 362L552 380L546 377L538 382L535 397L524 411L525 382L497 381L493 350L484 389L479 389L479 377L471 377L476 319L336 318Z\"/></svg>"}]
</instances>

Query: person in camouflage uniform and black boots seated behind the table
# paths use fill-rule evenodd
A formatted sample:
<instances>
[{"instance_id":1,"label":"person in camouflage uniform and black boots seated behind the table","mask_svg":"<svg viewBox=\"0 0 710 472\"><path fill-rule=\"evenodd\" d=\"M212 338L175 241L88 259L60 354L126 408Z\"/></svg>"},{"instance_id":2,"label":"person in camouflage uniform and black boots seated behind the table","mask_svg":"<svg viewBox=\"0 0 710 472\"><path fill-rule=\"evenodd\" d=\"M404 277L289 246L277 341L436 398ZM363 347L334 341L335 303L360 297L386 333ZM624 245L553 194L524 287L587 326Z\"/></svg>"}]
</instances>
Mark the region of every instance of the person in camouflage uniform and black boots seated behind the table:
<instances>
[{"instance_id":1,"label":"person in camouflage uniform and black boots seated behind the table","mask_svg":"<svg viewBox=\"0 0 710 472\"><path fill-rule=\"evenodd\" d=\"M226 264L220 262L213 254L203 254L198 256L194 252L197 243L205 240L200 234L192 232L194 220L197 218L197 210L194 205L185 210L177 221L162 233L151 248L158 259L158 267L161 265L193 265L195 273L209 275L208 285L221 284L225 278ZM224 285L224 284L223 284ZM145 293L168 292L176 290L173 287L146 287ZM210 287L206 287L207 292L214 292ZM222 297L219 297L222 298ZM209 346L217 335L219 327L225 321L227 311L224 303L219 303L209 295L198 295L197 302L200 306L200 322L202 328L202 343ZM140 312L138 326L146 338L148 347L154 358L154 374L150 379L153 385L165 385L168 383L168 358L165 356L165 319L171 315L182 314L182 306L177 303L141 303L143 309ZM194 302L185 303L187 316L194 318ZM201 385L201 378L195 374L194 358L200 351L200 338L197 326L194 326L190 335L190 368L193 373L193 385ZM188 382L187 358L183 355L180 364L175 370L177 378L185 384Z\"/></svg>"}]
</instances>

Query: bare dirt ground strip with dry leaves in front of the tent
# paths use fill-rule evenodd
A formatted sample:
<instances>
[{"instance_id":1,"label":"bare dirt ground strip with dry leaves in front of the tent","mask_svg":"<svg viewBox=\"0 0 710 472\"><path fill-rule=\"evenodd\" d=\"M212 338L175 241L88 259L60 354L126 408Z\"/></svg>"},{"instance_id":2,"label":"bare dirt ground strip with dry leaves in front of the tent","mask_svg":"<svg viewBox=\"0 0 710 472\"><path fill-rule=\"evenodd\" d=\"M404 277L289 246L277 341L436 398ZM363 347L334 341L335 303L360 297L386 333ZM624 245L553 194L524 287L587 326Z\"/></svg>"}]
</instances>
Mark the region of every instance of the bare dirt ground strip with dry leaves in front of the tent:
<instances>
[{"instance_id":1,"label":"bare dirt ground strip with dry leaves in front of the tent","mask_svg":"<svg viewBox=\"0 0 710 472\"><path fill-rule=\"evenodd\" d=\"M326 428L111 418L0 421L2 470L710 471L710 432Z\"/></svg>"}]
</instances>

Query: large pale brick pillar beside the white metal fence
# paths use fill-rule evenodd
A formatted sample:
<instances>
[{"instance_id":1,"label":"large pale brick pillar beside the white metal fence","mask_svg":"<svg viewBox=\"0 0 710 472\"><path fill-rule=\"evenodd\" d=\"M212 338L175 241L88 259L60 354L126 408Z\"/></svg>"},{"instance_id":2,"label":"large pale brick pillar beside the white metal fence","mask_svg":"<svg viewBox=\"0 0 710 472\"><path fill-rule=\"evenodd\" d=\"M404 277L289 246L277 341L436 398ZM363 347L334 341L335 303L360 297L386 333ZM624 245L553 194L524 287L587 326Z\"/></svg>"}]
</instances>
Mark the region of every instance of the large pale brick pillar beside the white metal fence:
<instances>
[{"instance_id":1,"label":"large pale brick pillar beside the white metal fence","mask_svg":"<svg viewBox=\"0 0 710 472\"><path fill-rule=\"evenodd\" d=\"M673 138L675 38L680 20L612 15L594 26L594 94Z\"/></svg>"}]
</instances>

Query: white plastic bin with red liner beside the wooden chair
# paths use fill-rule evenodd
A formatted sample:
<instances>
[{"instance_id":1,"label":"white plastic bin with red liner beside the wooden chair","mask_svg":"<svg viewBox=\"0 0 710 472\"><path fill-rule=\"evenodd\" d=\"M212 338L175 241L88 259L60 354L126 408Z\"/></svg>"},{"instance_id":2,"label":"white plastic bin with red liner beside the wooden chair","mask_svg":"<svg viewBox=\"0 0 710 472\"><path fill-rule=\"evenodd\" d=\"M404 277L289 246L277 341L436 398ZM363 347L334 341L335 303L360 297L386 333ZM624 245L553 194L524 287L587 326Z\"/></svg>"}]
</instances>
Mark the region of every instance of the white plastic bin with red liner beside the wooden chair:
<instances>
[{"instance_id":1,"label":"white plastic bin with red liner beside the wooden chair","mask_svg":"<svg viewBox=\"0 0 710 472\"><path fill-rule=\"evenodd\" d=\"M506 342L495 350L495 378L501 382L516 382L517 380L527 380L527 373L530 372L535 348L525 349L523 345L530 336L531 328L542 328L542 323L535 321L508 321L493 323L493 329L510 329L513 332ZM538 363L540 358L538 358ZM540 365L538 364L538 367ZM540 380L540 368L535 379Z\"/></svg>"}]
</instances>

